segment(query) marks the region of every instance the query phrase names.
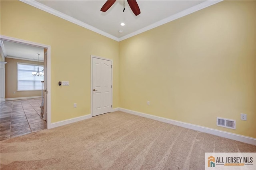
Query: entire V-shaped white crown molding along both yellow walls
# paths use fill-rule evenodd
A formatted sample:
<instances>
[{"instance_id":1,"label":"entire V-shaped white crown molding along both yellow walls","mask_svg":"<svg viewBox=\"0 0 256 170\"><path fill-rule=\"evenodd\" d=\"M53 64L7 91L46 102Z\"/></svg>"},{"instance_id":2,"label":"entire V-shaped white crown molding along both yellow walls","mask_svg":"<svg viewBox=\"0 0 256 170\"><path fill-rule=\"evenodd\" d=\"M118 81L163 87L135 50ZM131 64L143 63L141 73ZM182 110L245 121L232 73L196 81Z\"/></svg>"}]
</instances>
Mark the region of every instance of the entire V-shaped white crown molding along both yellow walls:
<instances>
[{"instance_id":1,"label":"entire V-shaped white crown molding along both yellow walls","mask_svg":"<svg viewBox=\"0 0 256 170\"><path fill-rule=\"evenodd\" d=\"M81 21L79 21L79 20L77 20L77 19L75 19L75 18L73 18L73 17L71 17L71 16L68 16L68 15L66 15L66 14L63 14L62 12L59 12L59 11L57 11L57 10L54 10L54 9L52 9L52 8L50 8L50 7L46 6L46 5L44 5L44 4L41 4L41 3L39 3L39 2L36 2L35 0L20 0L20 1L21 1L21 2L24 2L24 3L28 4L28 5L34 6L35 8L38 8L38 9L43 10L43 11L45 11L45 12L48 12L48 13L50 13L50 14L52 14L52 15L58 16L58 17L60 17L60 18L62 18L62 19L64 19L64 20L67 20L67 21L69 21L69 22L72 22L72 23L74 23L74 24L77 24L78 26L84 27L84 28L86 28L86 29L88 29L88 30L91 30L91 31L93 31L93 32L96 32L96 33L98 33L98 34L101 34L102 36L106 36L106 37L108 37L108 38L111 38L112 40L115 40L115 41L120 42L120 41L122 41L122 40L125 40L125 39L127 39L127 38L130 38L130 37L132 37L132 36L136 36L136 35L138 35L138 34L141 34L142 32L146 32L146 31L148 31L148 30L151 30L151 29L153 29L153 28L156 28L156 27L158 27L158 26L161 26L161 25L163 25L163 24L166 24L166 23L168 23L168 22L171 22L171 21L173 21L173 20L176 20L176 19L181 18L181 17L183 17L183 16L186 16L186 15L188 15L188 14L191 14L191 13L193 13L193 12L196 12L196 11L198 11L198 10L202 10L202 9L208 7L208 6L217 4L218 2L221 2L221 1L223 1L223 0L207 0L207 1L202 2L202 3L200 3L200 4L196 5L196 6L192 6L191 8L188 8L188 9L183 10L183 11L181 11L181 12L178 12L178 13L172 15L172 16L169 16L169 17L167 17L167 18L165 18L165 19L163 19L163 20L160 20L160 21L158 21L158 22L155 22L154 24L151 24L151 25L149 25L149 26L146 26L146 27L144 27L144 28L142 28L142 29L140 29L140 30L137 30L137 31L135 31L135 32L132 32L132 33L130 33L130 34L126 35L126 36L123 36L123 37L121 37L121 38L117 38L117 37L115 37L115 36L112 36L111 34L108 34L108 33L104 32L104 31L99 30L98 28L95 28L95 27L93 27L93 26L90 26L89 24L86 24L86 23L84 23L84 22L81 22Z\"/></svg>"}]
</instances>

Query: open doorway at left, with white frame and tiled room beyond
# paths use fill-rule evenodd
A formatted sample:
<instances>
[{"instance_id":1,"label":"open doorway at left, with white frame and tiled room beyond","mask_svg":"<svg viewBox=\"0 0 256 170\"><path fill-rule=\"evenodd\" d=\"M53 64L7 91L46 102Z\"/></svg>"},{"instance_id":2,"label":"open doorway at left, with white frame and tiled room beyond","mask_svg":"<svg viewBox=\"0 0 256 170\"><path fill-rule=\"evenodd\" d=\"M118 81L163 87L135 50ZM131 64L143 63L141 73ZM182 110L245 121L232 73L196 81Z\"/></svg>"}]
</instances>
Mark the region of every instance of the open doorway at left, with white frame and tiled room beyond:
<instances>
[{"instance_id":1,"label":"open doorway at left, with white frame and tiled room beyond","mask_svg":"<svg viewBox=\"0 0 256 170\"><path fill-rule=\"evenodd\" d=\"M44 44L40 44L40 43L35 43L35 42L29 42L26 40L20 40L20 39L16 39L16 38L11 38L11 37L7 37L7 36L0 36L0 40L1 40L1 48L3 49L4 43L13 43L12 45L17 45L17 47L31 47L31 49L42 49L42 55L40 57L40 61L39 62L39 57L37 58L37 56L35 57L35 59L33 58L22 58L22 54L20 54L20 56L10 56L10 54L8 55L8 59L10 61L14 61L17 64L15 66L12 66L13 68L15 67L16 70L16 76L15 77L8 77L8 79L12 78L15 79L16 83L16 89L13 90L13 93L15 94L19 94L16 95L17 97L15 97L15 95L9 95L9 97L5 96L5 92L6 92L6 87L2 87L1 86L1 140L7 139L8 138L8 131L9 131L9 138L11 138L12 136L20 136L21 134L28 134L30 132L36 132L38 130L41 130L43 128L50 128L51 125L51 109L50 109L50 101L51 101L51 97L50 97L50 57L51 57L51 47L50 45L44 45ZM34 47L34 48L33 48ZM10 49L8 49L10 50ZM15 49L13 49L15 51ZM24 51L26 51L26 49L23 49ZM4 55L3 53L6 53L6 51L1 53L1 56ZM34 51L30 51L30 53L34 54ZM6 55L6 54L5 54ZM4 57L6 57L4 55ZM14 55L14 54L12 54ZM17 62L19 61L19 62ZM36 61L36 62L35 62ZM38 64L35 64L37 63ZM9 62L11 63L11 62ZM5 65L8 64L8 62L3 62L1 60L1 77L2 72L6 72L5 71ZM20 66L20 68L18 69L18 65ZM28 67L26 67L26 65ZM35 78L33 78L33 80L31 80L31 75L29 74L31 71L29 70L30 67L32 67L33 65L36 65L37 67L40 67L40 73L43 74L43 76L41 78L38 78L35 76ZM6 65L7 66L7 65ZM25 66L25 67L22 67ZM10 65L8 65L8 67L11 67ZM34 67L34 66L33 66ZM27 68L27 69L25 69ZM9 69L8 69L9 70ZM30 79L26 79L26 78L20 78L18 79L18 72L20 71L20 77L22 77L22 75L24 75L25 73L29 74ZM34 70L35 71L35 70ZM32 73L31 73L32 74ZM8 73L6 72L6 76L8 76ZM39 76L40 77L40 76ZM40 81L39 81L40 79ZM42 79L42 80L41 80ZM4 81L6 80L6 77L4 76ZM1 79L2 81L2 79ZM19 82L19 84L18 84ZM30 84L33 82L35 85L34 87L30 87ZM25 85L23 85L24 89L22 89L22 83ZM28 83L28 84L26 84ZM33 84L32 83L32 84ZM40 84L39 84L40 83ZM2 83L1 83L2 84ZM18 89L19 86L19 89ZM38 87L40 86L40 87ZM4 88L4 90L2 89ZM7 87L7 89L9 88L10 91L10 87ZM27 90L26 88L32 88ZM33 89L34 88L34 89ZM26 92L32 92L29 93L30 95L28 95L28 93ZM8 92L10 93L10 92ZM24 95L26 94L26 95ZM33 94L37 94L36 96ZM38 95L39 94L39 95ZM22 97L23 95L23 97ZM3 107L5 106L5 107ZM11 111L10 111L11 109ZM5 114L2 114L5 113ZM40 120L40 118L42 118ZM44 121L43 121L44 120ZM5 126L5 124L9 125L10 128L8 128L8 125ZM5 128L3 129L2 126L5 126ZM23 128L23 129L22 129ZM2 130L4 130L5 132L2 133ZM6 135L4 135L6 133ZM3 134L3 135L2 135Z\"/></svg>"}]
</instances>

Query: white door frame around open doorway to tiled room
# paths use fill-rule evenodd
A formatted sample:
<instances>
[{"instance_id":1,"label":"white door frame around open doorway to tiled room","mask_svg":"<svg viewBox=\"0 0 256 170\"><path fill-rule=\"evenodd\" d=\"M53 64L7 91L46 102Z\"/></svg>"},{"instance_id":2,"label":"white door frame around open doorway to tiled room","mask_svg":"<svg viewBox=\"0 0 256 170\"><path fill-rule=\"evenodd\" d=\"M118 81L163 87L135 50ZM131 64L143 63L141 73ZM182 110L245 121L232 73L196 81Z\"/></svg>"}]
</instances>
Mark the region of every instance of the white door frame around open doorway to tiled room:
<instances>
[{"instance_id":1,"label":"white door frame around open doorway to tiled room","mask_svg":"<svg viewBox=\"0 0 256 170\"><path fill-rule=\"evenodd\" d=\"M21 40L18 38L13 38L13 37L8 37L8 36L2 36L0 35L0 40L6 40L9 42L16 42L16 43L23 43L26 45L33 45L36 47L41 47L41 48L46 48L47 49L47 92L48 95L47 97L47 123L46 123L46 128L49 129L51 128L51 46L50 45L45 45L41 43L36 43L36 42L30 42L26 40Z\"/></svg>"}]
</instances>

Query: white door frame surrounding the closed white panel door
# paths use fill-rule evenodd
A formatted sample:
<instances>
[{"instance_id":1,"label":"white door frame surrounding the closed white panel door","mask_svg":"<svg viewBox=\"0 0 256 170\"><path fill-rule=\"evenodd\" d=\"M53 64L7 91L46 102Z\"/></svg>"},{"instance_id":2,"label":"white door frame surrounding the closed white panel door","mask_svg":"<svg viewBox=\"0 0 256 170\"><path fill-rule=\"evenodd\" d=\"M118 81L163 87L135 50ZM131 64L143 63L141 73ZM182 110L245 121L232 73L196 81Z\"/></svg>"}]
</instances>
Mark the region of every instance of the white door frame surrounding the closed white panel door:
<instances>
[{"instance_id":1,"label":"white door frame surrounding the closed white panel door","mask_svg":"<svg viewBox=\"0 0 256 170\"><path fill-rule=\"evenodd\" d=\"M92 87L92 59L93 58L98 58L98 59L104 59L104 60L107 60L107 61L111 61L111 66L112 66L112 69L111 69L111 86L112 86L112 88L111 88L111 112L112 112L112 110L113 110L113 60L112 59L108 59L108 58L104 58L104 57L99 57L99 56L96 56L96 55L91 55L91 88L90 88L90 90L91 90L91 117L92 117L92 111L93 111L93 109L92 109L92 102L93 102L93 100L92 100L92 89L93 89L93 87Z\"/></svg>"}]
</instances>

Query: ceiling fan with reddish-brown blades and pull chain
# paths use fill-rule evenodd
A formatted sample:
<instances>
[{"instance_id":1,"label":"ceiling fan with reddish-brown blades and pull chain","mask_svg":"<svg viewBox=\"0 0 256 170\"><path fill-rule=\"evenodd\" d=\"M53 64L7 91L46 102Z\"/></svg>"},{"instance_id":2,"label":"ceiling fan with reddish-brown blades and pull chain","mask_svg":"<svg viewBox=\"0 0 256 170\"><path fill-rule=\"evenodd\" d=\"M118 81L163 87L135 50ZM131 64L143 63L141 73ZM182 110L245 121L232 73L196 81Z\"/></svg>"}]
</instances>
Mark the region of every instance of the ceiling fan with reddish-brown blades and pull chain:
<instances>
[{"instance_id":1,"label":"ceiling fan with reddish-brown blades and pull chain","mask_svg":"<svg viewBox=\"0 0 256 170\"><path fill-rule=\"evenodd\" d=\"M116 2L116 0L107 0L107 2L102 6L102 8L100 9L102 12L106 12L114 3ZM127 0L130 8L132 9L132 12L137 16L138 14L140 14L140 8L136 2L136 0ZM125 8L124 8L125 10ZM124 12L123 10L123 12Z\"/></svg>"}]
</instances>

